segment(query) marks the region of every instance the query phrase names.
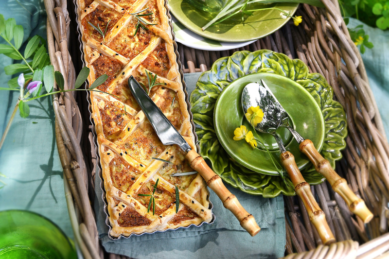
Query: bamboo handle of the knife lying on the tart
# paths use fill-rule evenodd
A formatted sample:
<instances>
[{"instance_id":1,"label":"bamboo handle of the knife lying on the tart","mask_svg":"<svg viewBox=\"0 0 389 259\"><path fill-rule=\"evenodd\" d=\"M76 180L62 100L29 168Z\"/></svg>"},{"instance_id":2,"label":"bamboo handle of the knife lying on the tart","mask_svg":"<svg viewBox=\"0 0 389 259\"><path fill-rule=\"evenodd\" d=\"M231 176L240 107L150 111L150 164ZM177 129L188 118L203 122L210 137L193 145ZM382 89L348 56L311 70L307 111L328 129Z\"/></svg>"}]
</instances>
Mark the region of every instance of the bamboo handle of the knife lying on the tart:
<instances>
[{"instance_id":1,"label":"bamboo handle of the knife lying on the tart","mask_svg":"<svg viewBox=\"0 0 389 259\"><path fill-rule=\"evenodd\" d=\"M254 216L249 214L246 209L242 207L238 199L224 186L222 179L216 175L212 169L207 165L204 159L198 155L195 150L191 150L186 154L191 167L195 169L207 185L219 196L224 207L229 209L232 214L239 220L240 225L253 237L261 230L255 222Z\"/></svg>"}]
</instances>

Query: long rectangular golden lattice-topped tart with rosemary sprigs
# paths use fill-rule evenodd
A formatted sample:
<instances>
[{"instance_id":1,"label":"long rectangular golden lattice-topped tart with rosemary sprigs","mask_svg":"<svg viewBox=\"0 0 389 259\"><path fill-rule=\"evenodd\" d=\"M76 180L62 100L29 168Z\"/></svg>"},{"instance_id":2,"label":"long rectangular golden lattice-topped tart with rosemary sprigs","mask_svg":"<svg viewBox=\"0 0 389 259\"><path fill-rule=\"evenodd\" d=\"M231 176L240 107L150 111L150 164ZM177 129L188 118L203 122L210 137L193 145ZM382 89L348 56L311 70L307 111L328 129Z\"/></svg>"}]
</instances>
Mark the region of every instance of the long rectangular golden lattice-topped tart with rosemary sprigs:
<instances>
[{"instance_id":1,"label":"long rectangular golden lattice-topped tart with rosemary sprigs","mask_svg":"<svg viewBox=\"0 0 389 259\"><path fill-rule=\"evenodd\" d=\"M205 181L198 174L171 176L193 169L179 147L160 142L128 88L131 75L147 89L157 75L161 85L151 88L150 97L195 148L165 1L77 0L77 5L89 84L108 76L98 87L106 93L91 92L90 101L111 236L210 222ZM148 208L152 197L154 209L152 203Z\"/></svg>"}]
</instances>

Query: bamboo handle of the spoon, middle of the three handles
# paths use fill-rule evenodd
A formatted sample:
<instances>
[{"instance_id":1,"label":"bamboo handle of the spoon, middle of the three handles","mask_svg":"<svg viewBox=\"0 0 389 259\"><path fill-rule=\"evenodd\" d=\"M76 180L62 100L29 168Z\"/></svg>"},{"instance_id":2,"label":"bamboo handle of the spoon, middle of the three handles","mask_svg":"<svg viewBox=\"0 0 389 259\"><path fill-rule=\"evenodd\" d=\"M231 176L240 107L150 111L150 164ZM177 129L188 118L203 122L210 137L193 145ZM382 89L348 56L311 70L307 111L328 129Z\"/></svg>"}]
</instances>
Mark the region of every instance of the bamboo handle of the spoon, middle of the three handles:
<instances>
[{"instance_id":1,"label":"bamboo handle of the spoon, middle of the three handles","mask_svg":"<svg viewBox=\"0 0 389 259\"><path fill-rule=\"evenodd\" d=\"M324 212L318 206L315 198L312 195L309 183L305 182L299 168L296 165L295 157L289 151L280 155L281 163L289 174L297 195L300 196L305 208L307 209L309 219L318 230L319 236L323 244L331 244L335 242L335 237L331 232L330 227L325 219Z\"/></svg>"}]
</instances>

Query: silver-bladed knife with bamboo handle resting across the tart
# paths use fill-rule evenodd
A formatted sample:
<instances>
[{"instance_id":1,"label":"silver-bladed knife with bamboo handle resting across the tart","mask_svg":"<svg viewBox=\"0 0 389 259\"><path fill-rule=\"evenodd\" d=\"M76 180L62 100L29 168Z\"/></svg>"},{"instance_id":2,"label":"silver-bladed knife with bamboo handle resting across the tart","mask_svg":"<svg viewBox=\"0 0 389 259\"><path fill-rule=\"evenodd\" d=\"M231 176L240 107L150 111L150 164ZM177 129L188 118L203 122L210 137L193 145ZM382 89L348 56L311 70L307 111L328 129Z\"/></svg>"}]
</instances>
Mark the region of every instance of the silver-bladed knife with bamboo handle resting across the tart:
<instances>
[{"instance_id":1,"label":"silver-bladed knife with bamboo handle resting across the tart","mask_svg":"<svg viewBox=\"0 0 389 259\"><path fill-rule=\"evenodd\" d=\"M239 220L240 225L251 235L255 236L261 228L255 222L254 216L242 207L238 199L224 186L222 179L215 174L204 159L193 150L184 138L178 133L172 123L166 118L158 106L138 84L133 76L128 79L132 95L141 106L143 113L150 121L159 139L164 145L178 145L186 154L191 167L195 169L207 182L207 185L219 196L224 207L229 209Z\"/></svg>"}]
</instances>

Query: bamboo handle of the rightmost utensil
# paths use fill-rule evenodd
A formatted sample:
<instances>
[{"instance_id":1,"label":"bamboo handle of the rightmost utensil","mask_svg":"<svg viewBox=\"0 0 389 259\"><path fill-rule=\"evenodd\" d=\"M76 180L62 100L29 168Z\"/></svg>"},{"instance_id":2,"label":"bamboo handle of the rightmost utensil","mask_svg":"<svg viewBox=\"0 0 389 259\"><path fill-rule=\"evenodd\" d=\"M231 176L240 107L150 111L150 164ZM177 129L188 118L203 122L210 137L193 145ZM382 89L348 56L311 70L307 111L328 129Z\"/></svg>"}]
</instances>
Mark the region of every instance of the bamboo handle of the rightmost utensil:
<instances>
[{"instance_id":1,"label":"bamboo handle of the rightmost utensil","mask_svg":"<svg viewBox=\"0 0 389 259\"><path fill-rule=\"evenodd\" d=\"M318 153L312 141L309 139L302 141L300 143L300 151L311 160L315 165L316 171L321 173L331 184L332 189L343 198L350 208L350 211L361 218L364 223L370 222L373 218L373 214L366 207L365 202L358 198L349 188L346 179L340 177L334 169L332 169L330 162Z\"/></svg>"}]
</instances>

